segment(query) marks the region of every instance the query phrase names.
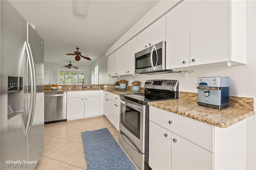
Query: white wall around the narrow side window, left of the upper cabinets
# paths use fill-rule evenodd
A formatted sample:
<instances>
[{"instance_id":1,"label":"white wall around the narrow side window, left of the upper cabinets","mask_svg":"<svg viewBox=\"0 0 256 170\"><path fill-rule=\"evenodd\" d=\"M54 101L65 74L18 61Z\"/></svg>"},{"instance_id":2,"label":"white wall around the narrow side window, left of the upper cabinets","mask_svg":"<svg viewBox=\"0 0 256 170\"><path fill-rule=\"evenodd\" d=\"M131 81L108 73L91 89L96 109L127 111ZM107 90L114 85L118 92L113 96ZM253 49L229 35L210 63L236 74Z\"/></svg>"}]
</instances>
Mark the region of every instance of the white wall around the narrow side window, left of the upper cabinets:
<instances>
[{"instance_id":1,"label":"white wall around the narrow side window, left of the upper cabinets","mask_svg":"<svg viewBox=\"0 0 256 170\"><path fill-rule=\"evenodd\" d=\"M91 65L91 82L94 84L94 67L96 64L99 64L98 72L99 72L99 84L114 84L117 78L108 77L108 58L105 57L105 53L103 53L97 61L95 61Z\"/></svg>"}]
</instances>

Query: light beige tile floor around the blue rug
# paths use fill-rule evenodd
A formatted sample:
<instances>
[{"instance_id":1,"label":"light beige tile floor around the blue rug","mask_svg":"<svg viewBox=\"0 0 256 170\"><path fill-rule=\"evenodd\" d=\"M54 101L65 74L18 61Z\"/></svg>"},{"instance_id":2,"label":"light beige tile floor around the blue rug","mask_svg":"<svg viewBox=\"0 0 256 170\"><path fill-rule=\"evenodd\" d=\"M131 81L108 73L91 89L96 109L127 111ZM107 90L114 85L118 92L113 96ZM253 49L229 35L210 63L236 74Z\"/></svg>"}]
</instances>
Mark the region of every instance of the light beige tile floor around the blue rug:
<instances>
[{"instance_id":1,"label":"light beige tile floor around the blue rug","mask_svg":"<svg viewBox=\"0 0 256 170\"><path fill-rule=\"evenodd\" d=\"M44 153L36 166L36 170L87 169L81 132L104 127L108 128L114 139L119 143L118 130L105 116L44 125ZM125 150L124 152L126 153ZM130 158L128 154L127 156ZM136 168L138 169L137 166Z\"/></svg>"}]
</instances>

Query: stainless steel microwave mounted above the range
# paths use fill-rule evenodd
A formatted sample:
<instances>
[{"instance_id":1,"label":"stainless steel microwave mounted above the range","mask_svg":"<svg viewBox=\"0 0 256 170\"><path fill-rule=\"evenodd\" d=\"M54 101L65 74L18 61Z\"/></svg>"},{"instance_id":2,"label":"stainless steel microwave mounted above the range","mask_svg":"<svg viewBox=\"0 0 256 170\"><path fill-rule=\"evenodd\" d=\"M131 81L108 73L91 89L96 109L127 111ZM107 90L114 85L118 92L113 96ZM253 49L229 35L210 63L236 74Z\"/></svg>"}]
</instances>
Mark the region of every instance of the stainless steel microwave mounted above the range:
<instances>
[{"instance_id":1,"label":"stainless steel microwave mounted above the range","mask_svg":"<svg viewBox=\"0 0 256 170\"><path fill-rule=\"evenodd\" d=\"M162 41L135 54L135 73L159 74L166 70L166 42Z\"/></svg>"}]
</instances>

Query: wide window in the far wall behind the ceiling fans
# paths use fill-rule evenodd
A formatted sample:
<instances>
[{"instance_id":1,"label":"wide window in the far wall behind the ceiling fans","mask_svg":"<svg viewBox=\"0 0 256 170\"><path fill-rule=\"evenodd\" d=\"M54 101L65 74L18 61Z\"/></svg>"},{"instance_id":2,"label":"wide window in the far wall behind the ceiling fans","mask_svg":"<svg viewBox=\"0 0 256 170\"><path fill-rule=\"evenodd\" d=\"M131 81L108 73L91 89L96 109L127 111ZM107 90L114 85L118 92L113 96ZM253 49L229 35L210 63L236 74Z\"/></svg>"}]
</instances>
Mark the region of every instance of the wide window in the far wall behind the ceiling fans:
<instances>
[{"instance_id":1,"label":"wide window in the far wall behind the ceiling fans","mask_svg":"<svg viewBox=\"0 0 256 170\"><path fill-rule=\"evenodd\" d=\"M82 84L83 78L84 70L58 70L58 84Z\"/></svg>"}]
</instances>

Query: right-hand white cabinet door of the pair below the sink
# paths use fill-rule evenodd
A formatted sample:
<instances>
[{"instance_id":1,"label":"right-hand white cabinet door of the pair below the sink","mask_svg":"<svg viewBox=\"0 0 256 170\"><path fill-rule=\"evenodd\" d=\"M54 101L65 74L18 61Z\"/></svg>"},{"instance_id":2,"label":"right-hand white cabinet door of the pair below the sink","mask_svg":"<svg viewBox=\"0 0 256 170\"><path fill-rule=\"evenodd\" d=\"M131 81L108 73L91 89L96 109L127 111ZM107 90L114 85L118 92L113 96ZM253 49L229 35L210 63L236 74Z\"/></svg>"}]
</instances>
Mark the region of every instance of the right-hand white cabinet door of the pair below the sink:
<instances>
[{"instance_id":1,"label":"right-hand white cabinet door of the pair below the sink","mask_svg":"<svg viewBox=\"0 0 256 170\"><path fill-rule=\"evenodd\" d=\"M100 114L100 97L86 97L84 100L84 115Z\"/></svg>"}]
</instances>

